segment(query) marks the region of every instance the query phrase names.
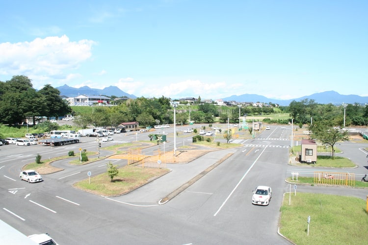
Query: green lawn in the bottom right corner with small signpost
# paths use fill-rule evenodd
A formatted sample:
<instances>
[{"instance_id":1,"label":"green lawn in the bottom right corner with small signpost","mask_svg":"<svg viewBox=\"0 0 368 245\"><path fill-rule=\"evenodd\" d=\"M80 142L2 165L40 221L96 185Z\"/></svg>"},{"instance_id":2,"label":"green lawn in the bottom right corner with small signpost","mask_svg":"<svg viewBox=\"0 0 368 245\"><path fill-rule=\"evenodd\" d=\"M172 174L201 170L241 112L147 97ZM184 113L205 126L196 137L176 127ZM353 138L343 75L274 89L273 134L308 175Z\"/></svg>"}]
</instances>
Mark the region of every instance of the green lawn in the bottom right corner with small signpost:
<instances>
[{"instance_id":1,"label":"green lawn in the bottom right corner with small signpost","mask_svg":"<svg viewBox=\"0 0 368 245\"><path fill-rule=\"evenodd\" d=\"M284 198L280 232L294 244L367 244L366 201L347 196L297 193ZM311 217L308 233L308 216Z\"/></svg>"}]
</instances>

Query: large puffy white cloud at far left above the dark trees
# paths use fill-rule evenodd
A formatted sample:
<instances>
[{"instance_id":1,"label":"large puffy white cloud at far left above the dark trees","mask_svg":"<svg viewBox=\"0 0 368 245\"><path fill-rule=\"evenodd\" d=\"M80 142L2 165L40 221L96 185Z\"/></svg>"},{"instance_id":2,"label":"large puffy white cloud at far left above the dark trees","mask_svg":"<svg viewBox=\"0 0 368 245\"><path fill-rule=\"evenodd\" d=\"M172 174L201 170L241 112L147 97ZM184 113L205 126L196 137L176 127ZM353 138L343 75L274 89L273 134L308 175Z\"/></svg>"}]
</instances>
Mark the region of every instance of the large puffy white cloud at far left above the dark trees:
<instances>
[{"instance_id":1,"label":"large puffy white cloud at far left above the dark trees","mask_svg":"<svg viewBox=\"0 0 368 245\"><path fill-rule=\"evenodd\" d=\"M31 42L0 44L0 74L24 74L32 79L35 88L55 77L68 79L67 71L75 70L92 56L91 40L71 42L61 37L36 38ZM43 81L38 81L40 78Z\"/></svg>"}]
</instances>

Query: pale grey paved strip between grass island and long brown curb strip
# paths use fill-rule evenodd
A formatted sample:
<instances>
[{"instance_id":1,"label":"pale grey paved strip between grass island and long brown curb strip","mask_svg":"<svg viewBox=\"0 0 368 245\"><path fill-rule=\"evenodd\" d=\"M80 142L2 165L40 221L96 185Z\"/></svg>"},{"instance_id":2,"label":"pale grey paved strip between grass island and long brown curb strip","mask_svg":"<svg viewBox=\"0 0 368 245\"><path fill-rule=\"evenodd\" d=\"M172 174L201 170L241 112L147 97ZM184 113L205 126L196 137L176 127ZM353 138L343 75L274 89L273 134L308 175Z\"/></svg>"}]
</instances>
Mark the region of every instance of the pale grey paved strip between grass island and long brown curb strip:
<instances>
[{"instance_id":1,"label":"pale grey paved strip between grass island and long brown curb strip","mask_svg":"<svg viewBox=\"0 0 368 245\"><path fill-rule=\"evenodd\" d=\"M200 177L221 164L237 148L211 151L187 164L168 164L171 172L123 196L109 197L109 199L131 205L164 204L175 197Z\"/></svg>"}]
</instances>

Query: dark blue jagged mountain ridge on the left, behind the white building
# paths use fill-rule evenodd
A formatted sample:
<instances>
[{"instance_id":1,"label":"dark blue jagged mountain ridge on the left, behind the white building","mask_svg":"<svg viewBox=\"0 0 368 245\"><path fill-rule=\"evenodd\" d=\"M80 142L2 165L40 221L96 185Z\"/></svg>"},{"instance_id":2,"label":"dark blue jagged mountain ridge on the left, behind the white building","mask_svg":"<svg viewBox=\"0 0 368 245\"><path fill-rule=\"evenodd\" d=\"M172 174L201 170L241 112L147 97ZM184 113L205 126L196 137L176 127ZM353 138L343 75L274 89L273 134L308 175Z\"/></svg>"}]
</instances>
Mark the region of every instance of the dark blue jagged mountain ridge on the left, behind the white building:
<instances>
[{"instance_id":1,"label":"dark blue jagged mountain ridge on the left, behind the white building","mask_svg":"<svg viewBox=\"0 0 368 245\"><path fill-rule=\"evenodd\" d=\"M88 86L73 88L64 84L63 86L57 87L56 89L60 91L60 95L67 97L78 97L80 95L105 95L105 96L116 96L116 97L126 96L128 98L137 98L134 95L125 93L116 86L109 86L104 89L92 89Z\"/></svg>"}]
</instances>

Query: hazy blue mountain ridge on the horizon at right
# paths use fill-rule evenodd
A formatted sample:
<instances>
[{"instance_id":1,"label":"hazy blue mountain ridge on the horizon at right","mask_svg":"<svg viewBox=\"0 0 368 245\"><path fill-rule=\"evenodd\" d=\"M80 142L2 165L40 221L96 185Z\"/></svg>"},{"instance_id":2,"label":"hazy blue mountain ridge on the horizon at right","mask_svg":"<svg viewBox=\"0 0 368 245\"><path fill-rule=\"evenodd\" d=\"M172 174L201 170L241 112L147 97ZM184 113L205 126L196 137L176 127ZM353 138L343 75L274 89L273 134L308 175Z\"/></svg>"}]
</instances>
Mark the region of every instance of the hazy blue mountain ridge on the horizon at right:
<instances>
[{"instance_id":1,"label":"hazy blue mountain ridge on the horizon at right","mask_svg":"<svg viewBox=\"0 0 368 245\"><path fill-rule=\"evenodd\" d=\"M272 102L274 104L279 104L282 106L289 105L291 101L301 101L303 99L314 99L318 104L333 104L339 105L342 103L348 104L365 104L368 103L368 97L362 97L358 95L341 95L335 91L326 91L321 93L312 94L310 96L303 96L300 98L293 98L293 99L273 99L273 98L266 98L260 95L254 94L244 94L244 95L233 95L227 98L222 98L224 101L237 101L237 102Z\"/></svg>"}]
</instances>

